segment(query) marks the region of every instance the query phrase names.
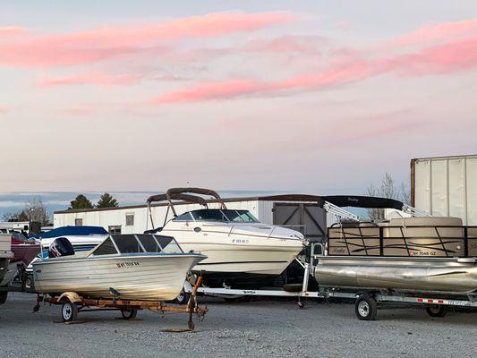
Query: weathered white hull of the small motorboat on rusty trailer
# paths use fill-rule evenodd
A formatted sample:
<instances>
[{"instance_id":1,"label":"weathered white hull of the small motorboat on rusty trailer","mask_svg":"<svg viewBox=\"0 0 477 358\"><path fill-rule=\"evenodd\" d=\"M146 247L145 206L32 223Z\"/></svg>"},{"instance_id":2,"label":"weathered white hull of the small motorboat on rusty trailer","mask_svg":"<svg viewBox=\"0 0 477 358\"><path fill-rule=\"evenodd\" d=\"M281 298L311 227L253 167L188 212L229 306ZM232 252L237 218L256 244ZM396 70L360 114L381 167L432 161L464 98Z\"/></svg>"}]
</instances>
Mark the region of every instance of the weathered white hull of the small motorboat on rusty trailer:
<instances>
[{"instance_id":1,"label":"weathered white hull of the small motorboat on rusty trailer","mask_svg":"<svg viewBox=\"0 0 477 358\"><path fill-rule=\"evenodd\" d=\"M183 289L186 273L201 255L148 255L47 259L33 263L35 288L43 294L169 301ZM111 290L113 289L113 290Z\"/></svg>"}]
</instances>

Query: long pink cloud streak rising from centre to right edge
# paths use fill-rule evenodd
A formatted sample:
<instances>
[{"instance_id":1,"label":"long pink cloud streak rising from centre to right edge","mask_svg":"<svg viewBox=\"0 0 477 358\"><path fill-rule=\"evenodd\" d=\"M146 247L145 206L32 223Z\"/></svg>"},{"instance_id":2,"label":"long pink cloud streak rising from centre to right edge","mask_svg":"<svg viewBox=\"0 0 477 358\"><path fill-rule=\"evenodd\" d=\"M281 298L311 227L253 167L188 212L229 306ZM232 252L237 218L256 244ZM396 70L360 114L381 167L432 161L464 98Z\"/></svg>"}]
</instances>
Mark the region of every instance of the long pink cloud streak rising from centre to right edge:
<instances>
[{"instance_id":1,"label":"long pink cloud streak rising from centre to right edge","mask_svg":"<svg viewBox=\"0 0 477 358\"><path fill-rule=\"evenodd\" d=\"M203 82L190 89L166 92L152 100L160 105L196 102L243 96L264 96L285 90L321 90L332 85L362 81L380 74L450 74L477 66L477 38L426 47L413 54L375 60L357 59L323 72L295 76L285 81L232 80Z\"/></svg>"}]
</instances>

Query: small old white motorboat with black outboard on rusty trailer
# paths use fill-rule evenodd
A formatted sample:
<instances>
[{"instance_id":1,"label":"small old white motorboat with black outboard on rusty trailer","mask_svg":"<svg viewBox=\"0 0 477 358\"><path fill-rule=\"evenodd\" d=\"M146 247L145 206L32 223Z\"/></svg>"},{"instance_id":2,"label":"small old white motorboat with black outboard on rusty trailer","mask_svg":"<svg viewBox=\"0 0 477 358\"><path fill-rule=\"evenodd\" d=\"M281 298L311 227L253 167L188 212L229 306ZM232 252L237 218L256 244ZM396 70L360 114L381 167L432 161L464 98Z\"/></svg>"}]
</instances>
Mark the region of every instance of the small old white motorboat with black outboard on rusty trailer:
<instances>
[{"instance_id":1,"label":"small old white motorboat with black outboard on rusty trailer","mask_svg":"<svg viewBox=\"0 0 477 358\"><path fill-rule=\"evenodd\" d=\"M110 235L89 252L73 255L64 238L52 243L63 256L33 263L35 289L42 294L75 292L83 297L124 300L174 300L187 272L204 255L183 253L173 237L152 234Z\"/></svg>"}]
</instances>

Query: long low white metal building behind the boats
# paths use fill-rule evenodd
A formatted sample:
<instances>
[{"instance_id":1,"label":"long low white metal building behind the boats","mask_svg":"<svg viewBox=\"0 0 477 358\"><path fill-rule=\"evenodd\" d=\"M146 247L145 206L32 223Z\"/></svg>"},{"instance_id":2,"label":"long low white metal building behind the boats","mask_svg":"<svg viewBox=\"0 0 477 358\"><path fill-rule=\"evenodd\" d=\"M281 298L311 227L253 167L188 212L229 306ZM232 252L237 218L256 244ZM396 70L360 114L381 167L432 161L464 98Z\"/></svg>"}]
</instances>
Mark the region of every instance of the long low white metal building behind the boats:
<instances>
[{"instance_id":1,"label":"long low white metal building behind the boats","mask_svg":"<svg viewBox=\"0 0 477 358\"><path fill-rule=\"evenodd\" d=\"M334 215L319 206L319 197L312 195L274 195L247 198L224 198L228 209L251 211L260 222L287 226L302 232L313 241L324 239L328 226L336 220ZM208 200L209 208L219 208L217 200ZM177 215L193 209L199 204L177 203ZM154 226L163 226L167 203L151 205ZM168 219L171 218L169 212ZM55 211L54 226L103 226L110 233L134 234L151 229L146 205L125 206L106 209L78 209Z\"/></svg>"}]
</instances>

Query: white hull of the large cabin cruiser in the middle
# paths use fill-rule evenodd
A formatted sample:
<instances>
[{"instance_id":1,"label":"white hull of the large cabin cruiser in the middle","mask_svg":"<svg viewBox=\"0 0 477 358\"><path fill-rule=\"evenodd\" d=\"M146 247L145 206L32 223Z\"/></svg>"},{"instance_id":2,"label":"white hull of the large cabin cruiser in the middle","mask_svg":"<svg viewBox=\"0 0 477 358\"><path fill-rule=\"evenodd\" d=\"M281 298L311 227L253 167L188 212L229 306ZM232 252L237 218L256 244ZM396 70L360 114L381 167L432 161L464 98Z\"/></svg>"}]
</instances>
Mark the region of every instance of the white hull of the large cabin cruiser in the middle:
<instances>
[{"instance_id":1,"label":"white hull of the large cabin cruiser in the middle","mask_svg":"<svg viewBox=\"0 0 477 358\"><path fill-rule=\"evenodd\" d=\"M302 240L293 236L296 232L278 226L174 222L168 226L161 234L174 236L184 252L207 256L192 269L202 275L207 286L269 285L304 247Z\"/></svg>"}]
</instances>

